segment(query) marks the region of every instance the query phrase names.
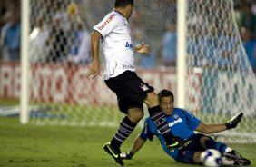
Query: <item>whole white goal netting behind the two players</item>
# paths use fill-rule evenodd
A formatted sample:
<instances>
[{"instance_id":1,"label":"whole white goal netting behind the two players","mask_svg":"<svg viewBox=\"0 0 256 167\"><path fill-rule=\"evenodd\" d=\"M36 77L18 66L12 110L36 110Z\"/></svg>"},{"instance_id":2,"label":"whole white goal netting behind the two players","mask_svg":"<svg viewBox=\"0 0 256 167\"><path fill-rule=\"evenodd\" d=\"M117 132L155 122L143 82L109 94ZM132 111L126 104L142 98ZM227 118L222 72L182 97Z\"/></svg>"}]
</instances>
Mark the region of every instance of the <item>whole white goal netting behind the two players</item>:
<instances>
[{"instance_id":1,"label":"whole white goal netting behind the two players","mask_svg":"<svg viewBox=\"0 0 256 167\"><path fill-rule=\"evenodd\" d=\"M123 118L103 77L86 77L92 27L113 9L113 0L31 0L29 37L30 123L117 126ZM138 74L155 88L176 92L177 2L135 0L129 21ZM256 80L244 52L231 0L186 1L185 108L203 123L239 126L218 133L225 142L256 142ZM103 63L103 57L102 57ZM145 108L145 113L146 108Z\"/></svg>"}]
</instances>

